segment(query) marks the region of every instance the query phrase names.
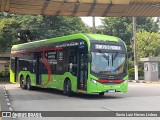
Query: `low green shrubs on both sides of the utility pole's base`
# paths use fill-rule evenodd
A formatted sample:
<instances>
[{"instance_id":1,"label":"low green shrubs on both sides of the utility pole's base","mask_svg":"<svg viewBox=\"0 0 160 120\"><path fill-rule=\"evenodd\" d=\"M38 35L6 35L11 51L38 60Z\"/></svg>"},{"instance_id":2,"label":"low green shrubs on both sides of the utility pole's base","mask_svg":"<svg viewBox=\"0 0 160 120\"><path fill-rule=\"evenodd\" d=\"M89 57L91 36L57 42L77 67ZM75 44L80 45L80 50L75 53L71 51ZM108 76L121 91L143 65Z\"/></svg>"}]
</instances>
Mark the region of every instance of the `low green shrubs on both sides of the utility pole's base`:
<instances>
[{"instance_id":1,"label":"low green shrubs on both sides of the utility pole's base","mask_svg":"<svg viewBox=\"0 0 160 120\"><path fill-rule=\"evenodd\" d=\"M134 77L135 77L135 76L134 76L134 75L135 75L135 73L134 73L134 68L130 68L128 72L129 72L129 79L130 79L130 80L134 80ZM139 69L138 69L138 77L141 77L141 78L142 78L143 76L144 76L143 69L142 69L142 68L139 68Z\"/></svg>"}]
</instances>

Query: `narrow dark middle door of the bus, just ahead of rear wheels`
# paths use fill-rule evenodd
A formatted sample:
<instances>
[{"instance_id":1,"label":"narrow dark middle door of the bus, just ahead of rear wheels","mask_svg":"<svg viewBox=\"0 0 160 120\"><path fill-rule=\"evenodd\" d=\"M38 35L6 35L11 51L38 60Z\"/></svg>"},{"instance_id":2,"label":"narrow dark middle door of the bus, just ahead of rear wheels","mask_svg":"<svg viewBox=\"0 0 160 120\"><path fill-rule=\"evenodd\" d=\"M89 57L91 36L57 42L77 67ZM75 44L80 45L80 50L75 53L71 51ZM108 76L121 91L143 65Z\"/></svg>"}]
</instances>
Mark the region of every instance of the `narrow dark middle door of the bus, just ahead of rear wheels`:
<instances>
[{"instance_id":1,"label":"narrow dark middle door of the bus, just ahead of rear wheels","mask_svg":"<svg viewBox=\"0 0 160 120\"><path fill-rule=\"evenodd\" d=\"M36 54L36 84L41 84L41 54Z\"/></svg>"}]
</instances>

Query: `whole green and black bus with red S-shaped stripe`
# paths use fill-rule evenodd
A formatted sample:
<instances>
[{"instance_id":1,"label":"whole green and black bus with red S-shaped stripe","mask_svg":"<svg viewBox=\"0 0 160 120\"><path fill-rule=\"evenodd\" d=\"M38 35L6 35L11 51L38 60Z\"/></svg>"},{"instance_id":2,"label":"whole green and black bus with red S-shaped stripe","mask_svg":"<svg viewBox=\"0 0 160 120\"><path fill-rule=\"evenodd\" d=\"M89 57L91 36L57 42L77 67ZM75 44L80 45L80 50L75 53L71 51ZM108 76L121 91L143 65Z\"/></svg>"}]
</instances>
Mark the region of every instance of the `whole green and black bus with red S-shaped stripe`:
<instances>
[{"instance_id":1,"label":"whole green and black bus with red S-shaped stripe","mask_svg":"<svg viewBox=\"0 0 160 120\"><path fill-rule=\"evenodd\" d=\"M75 93L127 92L127 50L113 36L73 34L13 45L10 82L23 89Z\"/></svg>"}]
</instances>

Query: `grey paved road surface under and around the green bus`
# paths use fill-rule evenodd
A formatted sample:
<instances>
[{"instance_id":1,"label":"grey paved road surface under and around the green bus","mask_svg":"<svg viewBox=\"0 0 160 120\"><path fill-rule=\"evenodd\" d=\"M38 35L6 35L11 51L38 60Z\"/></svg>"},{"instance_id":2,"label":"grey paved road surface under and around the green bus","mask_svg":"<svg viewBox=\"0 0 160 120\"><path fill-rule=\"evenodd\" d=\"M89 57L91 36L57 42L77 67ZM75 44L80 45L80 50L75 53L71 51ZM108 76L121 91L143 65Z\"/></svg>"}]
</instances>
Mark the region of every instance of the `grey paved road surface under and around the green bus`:
<instances>
[{"instance_id":1,"label":"grey paved road surface under and around the green bus","mask_svg":"<svg viewBox=\"0 0 160 120\"><path fill-rule=\"evenodd\" d=\"M127 93L106 93L103 97L83 94L67 97L61 91L40 88L28 91L19 88L17 84L6 84L5 87L15 111L160 111L160 84L130 83ZM53 118L50 119L53 120ZM75 120L75 118L67 119ZM109 118L79 119L105 120ZM123 120L124 118L110 119ZM125 119L160 120L160 118Z\"/></svg>"}]
</instances>

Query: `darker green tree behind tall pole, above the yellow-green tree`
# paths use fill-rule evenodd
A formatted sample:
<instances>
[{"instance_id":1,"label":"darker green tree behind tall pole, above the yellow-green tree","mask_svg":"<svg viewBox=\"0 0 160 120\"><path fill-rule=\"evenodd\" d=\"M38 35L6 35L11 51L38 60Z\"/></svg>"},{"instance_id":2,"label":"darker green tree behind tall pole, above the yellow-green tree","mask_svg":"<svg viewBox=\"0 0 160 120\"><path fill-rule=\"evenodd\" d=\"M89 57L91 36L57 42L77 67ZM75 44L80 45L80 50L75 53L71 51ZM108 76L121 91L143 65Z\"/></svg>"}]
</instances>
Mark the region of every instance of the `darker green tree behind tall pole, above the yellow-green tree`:
<instances>
[{"instance_id":1,"label":"darker green tree behind tall pole, above the yellow-green tree","mask_svg":"<svg viewBox=\"0 0 160 120\"><path fill-rule=\"evenodd\" d=\"M132 18L131 17L106 17L102 19L105 29L103 34L113 35L121 38L127 45L132 40ZM148 32L157 32L158 25L150 17L137 17L137 30L146 30Z\"/></svg>"}]
</instances>

